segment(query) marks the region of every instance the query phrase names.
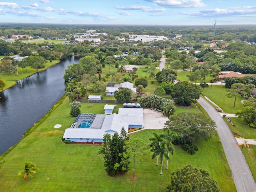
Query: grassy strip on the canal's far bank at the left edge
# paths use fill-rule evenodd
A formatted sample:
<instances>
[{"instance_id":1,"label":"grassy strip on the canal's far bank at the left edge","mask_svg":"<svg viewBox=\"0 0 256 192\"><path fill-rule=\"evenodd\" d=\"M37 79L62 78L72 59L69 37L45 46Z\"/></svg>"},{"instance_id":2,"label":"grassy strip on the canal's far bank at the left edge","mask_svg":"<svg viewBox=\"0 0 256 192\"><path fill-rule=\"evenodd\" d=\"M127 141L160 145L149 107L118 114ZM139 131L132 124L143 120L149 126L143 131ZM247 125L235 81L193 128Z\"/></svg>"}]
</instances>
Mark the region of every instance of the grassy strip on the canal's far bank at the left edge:
<instances>
[{"instance_id":1,"label":"grassy strip on the canal's far bank at the left edge","mask_svg":"<svg viewBox=\"0 0 256 192\"><path fill-rule=\"evenodd\" d=\"M59 62L59 60L52 60L52 62L47 60L47 63L45 64L45 68L39 69L39 71L46 70L50 66L56 64L57 62ZM9 88L11 86L14 86L16 84L17 80L21 80L23 78L31 76L34 73L36 73L36 69L31 68L29 66L27 67L27 72L26 72L26 68L22 68L22 70L18 70L18 76L15 76L13 72L11 72L11 74L9 74L7 72L0 73L1 80L3 80L4 83L6 84L6 86L4 87L3 90L6 90L7 88Z\"/></svg>"}]
</instances>

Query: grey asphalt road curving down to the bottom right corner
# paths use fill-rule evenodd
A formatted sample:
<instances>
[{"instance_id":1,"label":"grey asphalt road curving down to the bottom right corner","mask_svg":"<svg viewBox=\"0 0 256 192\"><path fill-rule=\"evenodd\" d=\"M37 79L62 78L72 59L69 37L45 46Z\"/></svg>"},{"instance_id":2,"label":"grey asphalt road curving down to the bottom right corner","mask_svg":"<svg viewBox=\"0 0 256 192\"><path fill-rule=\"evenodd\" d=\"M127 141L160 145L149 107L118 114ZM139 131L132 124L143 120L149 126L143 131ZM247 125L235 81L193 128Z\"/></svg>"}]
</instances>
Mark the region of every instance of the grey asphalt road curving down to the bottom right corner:
<instances>
[{"instance_id":1,"label":"grey asphalt road curving down to the bottom right corner","mask_svg":"<svg viewBox=\"0 0 256 192\"><path fill-rule=\"evenodd\" d=\"M206 110L210 118L216 122L230 170L238 192L256 192L256 183L244 155L238 146L230 128L220 114L206 100L200 98L198 103Z\"/></svg>"}]
</instances>

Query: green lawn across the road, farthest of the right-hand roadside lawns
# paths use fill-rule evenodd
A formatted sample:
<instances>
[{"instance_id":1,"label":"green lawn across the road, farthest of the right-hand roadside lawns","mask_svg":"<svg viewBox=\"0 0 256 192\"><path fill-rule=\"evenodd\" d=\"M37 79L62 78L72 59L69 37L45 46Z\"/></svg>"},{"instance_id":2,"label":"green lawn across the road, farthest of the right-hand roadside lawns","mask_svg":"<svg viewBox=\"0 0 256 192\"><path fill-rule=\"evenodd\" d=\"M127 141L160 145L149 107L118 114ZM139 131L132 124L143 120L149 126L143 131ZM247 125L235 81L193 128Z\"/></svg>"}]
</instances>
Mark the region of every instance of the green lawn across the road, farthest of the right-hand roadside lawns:
<instances>
[{"instance_id":1,"label":"green lawn across the road, farthest of the right-hand roadside lawns","mask_svg":"<svg viewBox=\"0 0 256 192\"><path fill-rule=\"evenodd\" d=\"M242 107L242 97L237 96L236 97L236 106L234 106L234 100L235 98L227 98L227 92L225 86L220 85L213 85L212 87L209 85L209 87L204 88L202 90L202 94L210 98L214 103L216 103L225 113L236 113L237 110L239 110Z\"/></svg>"}]
</instances>

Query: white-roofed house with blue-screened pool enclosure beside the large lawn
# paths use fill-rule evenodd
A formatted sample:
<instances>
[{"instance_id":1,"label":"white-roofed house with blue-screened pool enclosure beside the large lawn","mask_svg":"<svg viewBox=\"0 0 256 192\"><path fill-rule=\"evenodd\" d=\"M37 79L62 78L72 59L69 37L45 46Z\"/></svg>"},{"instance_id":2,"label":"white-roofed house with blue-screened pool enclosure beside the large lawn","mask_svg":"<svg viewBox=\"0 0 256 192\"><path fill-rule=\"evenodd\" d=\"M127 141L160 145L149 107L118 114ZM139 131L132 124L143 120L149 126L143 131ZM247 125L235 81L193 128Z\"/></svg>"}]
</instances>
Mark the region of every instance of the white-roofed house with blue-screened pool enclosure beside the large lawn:
<instances>
[{"instance_id":1,"label":"white-roofed house with blue-screened pool enclosure beside the large lawn","mask_svg":"<svg viewBox=\"0 0 256 192\"><path fill-rule=\"evenodd\" d=\"M120 113L120 114L119 114ZM79 114L63 138L83 144L101 144L106 133L121 133L122 127L128 129L142 128L144 125L142 108L119 108L118 114Z\"/></svg>"}]
</instances>

